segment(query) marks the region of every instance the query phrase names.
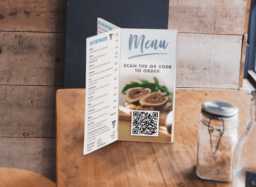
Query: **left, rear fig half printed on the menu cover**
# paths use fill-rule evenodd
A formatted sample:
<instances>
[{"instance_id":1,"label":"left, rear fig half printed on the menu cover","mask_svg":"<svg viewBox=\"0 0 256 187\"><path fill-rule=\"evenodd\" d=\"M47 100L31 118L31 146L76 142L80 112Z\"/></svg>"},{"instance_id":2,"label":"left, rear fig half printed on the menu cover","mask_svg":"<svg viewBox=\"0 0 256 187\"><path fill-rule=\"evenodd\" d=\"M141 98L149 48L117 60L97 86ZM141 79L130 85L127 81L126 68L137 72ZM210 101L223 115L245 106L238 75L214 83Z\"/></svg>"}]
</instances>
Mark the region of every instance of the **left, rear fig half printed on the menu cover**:
<instances>
[{"instance_id":1,"label":"left, rear fig half printed on the menu cover","mask_svg":"<svg viewBox=\"0 0 256 187\"><path fill-rule=\"evenodd\" d=\"M130 88L126 92L126 101L127 102L136 102L139 101L144 96L150 94L151 89L149 88L142 88L142 87L136 87L136 88Z\"/></svg>"}]
</instances>

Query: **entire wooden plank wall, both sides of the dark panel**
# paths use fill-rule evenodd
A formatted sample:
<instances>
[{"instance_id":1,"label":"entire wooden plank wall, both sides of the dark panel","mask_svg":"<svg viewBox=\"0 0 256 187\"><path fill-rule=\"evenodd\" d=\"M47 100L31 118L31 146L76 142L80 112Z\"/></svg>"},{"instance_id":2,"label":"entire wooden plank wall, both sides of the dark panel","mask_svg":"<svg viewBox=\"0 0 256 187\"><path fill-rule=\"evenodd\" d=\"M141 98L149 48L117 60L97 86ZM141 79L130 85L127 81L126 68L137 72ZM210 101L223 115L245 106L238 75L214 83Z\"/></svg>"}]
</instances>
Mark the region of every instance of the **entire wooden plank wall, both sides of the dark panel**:
<instances>
[{"instance_id":1,"label":"entire wooden plank wall, both sides of the dark panel","mask_svg":"<svg viewBox=\"0 0 256 187\"><path fill-rule=\"evenodd\" d=\"M55 91L63 87L66 1L0 0L0 167L55 180ZM172 0L177 86L238 88L246 1Z\"/></svg>"}]
</instances>

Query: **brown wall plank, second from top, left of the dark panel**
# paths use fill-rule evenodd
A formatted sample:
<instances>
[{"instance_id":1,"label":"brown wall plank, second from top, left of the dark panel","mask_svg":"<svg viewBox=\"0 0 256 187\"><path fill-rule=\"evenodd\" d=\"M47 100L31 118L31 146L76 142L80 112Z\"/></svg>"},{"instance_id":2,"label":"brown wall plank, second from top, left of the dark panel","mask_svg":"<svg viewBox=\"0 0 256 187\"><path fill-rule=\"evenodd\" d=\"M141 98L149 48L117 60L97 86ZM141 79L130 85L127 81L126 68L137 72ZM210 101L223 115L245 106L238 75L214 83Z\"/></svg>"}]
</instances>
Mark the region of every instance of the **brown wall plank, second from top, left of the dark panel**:
<instances>
[{"instance_id":1,"label":"brown wall plank, second from top, left of the dark panel","mask_svg":"<svg viewBox=\"0 0 256 187\"><path fill-rule=\"evenodd\" d=\"M0 84L63 85L65 34L0 32Z\"/></svg>"}]
</instances>

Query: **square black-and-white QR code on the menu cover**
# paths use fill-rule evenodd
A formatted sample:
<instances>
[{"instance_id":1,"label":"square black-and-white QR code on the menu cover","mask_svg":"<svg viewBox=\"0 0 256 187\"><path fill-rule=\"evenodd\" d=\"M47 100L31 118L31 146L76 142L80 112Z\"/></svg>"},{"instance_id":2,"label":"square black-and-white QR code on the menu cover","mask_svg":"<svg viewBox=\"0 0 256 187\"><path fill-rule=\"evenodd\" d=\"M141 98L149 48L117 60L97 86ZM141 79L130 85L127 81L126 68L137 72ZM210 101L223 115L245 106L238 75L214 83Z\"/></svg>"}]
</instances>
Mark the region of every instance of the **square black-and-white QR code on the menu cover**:
<instances>
[{"instance_id":1,"label":"square black-and-white QR code on the menu cover","mask_svg":"<svg viewBox=\"0 0 256 187\"><path fill-rule=\"evenodd\" d=\"M159 111L132 111L131 135L158 136Z\"/></svg>"}]
</instances>

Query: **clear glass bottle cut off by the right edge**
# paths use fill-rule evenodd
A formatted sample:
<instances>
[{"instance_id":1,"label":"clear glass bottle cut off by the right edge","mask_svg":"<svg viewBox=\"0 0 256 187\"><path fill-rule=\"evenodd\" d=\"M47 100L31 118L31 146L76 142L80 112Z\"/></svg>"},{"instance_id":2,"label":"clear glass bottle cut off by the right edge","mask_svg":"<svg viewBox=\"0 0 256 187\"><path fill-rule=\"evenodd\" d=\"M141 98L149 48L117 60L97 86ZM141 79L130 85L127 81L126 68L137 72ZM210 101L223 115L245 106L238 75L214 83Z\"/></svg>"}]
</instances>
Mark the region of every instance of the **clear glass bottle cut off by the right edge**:
<instances>
[{"instance_id":1,"label":"clear glass bottle cut off by the right edge","mask_svg":"<svg viewBox=\"0 0 256 187\"><path fill-rule=\"evenodd\" d=\"M256 90L249 94L250 112L234 153L232 187L256 186Z\"/></svg>"}]
</instances>

